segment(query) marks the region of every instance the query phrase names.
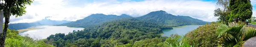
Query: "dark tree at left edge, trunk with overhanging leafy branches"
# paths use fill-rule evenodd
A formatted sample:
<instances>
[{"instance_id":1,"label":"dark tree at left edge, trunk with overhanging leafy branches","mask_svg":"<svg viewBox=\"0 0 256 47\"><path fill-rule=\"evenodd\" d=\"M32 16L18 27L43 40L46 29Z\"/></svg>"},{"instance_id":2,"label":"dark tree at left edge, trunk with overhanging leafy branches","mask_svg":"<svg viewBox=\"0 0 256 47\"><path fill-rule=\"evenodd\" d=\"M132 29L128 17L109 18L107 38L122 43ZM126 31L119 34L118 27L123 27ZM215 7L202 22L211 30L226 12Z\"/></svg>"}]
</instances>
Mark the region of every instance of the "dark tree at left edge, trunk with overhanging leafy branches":
<instances>
[{"instance_id":1,"label":"dark tree at left edge, trunk with overhanging leafy branches","mask_svg":"<svg viewBox=\"0 0 256 47\"><path fill-rule=\"evenodd\" d=\"M4 18L5 18L5 26L3 29L3 33L0 34L0 47L4 47L4 42L6 39L6 32L8 28L8 23L10 16L22 16L26 13L26 5L30 5L32 0L0 0L0 10L3 10Z\"/></svg>"}]
</instances>

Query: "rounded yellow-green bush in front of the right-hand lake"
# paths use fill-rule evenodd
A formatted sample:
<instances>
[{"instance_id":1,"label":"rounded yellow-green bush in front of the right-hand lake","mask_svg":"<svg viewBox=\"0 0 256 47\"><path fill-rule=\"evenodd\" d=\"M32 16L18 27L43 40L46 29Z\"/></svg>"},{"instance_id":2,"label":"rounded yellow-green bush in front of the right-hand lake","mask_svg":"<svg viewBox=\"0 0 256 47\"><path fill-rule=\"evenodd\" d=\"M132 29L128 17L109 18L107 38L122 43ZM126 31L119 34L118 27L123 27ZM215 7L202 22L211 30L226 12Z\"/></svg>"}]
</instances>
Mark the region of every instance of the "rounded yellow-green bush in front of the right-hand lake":
<instances>
[{"instance_id":1,"label":"rounded yellow-green bush in front of the right-hand lake","mask_svg":"<svg viewBox=\"0 0 256 47\"><path fill-rule=\"evenodd\" d=\"M203 26L199 26L193 31L189 31L183 37L187 40L187 44L195 47L216 47L218 46L218 38L215 35L218 23L212 22Z\"/></svg>"}]
</instances>

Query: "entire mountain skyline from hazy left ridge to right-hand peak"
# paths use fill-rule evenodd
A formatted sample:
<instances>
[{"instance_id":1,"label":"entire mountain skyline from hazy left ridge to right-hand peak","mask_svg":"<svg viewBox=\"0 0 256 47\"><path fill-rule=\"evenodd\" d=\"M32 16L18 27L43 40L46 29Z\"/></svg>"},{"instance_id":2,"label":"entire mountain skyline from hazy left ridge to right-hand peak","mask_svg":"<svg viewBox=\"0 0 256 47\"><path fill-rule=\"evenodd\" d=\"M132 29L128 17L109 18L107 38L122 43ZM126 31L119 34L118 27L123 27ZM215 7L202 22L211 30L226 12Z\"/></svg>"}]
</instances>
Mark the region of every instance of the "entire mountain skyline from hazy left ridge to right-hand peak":
<instances>
[{"instance_id":1,"label":"entire mountain skyline from hazy left ridge to right-hand peak","mask_svg":"<svg viewBox=\"0 0 256 47\"><path fill-rule=\"evenodd\" d=\"M13 23L9 24L9 29L26 29L32 26L41 25L54 25L54 26L69 26L69 27L89 27L89 26L99 26L102 23L118 20L122 18L133 18L131 16L122 14L120 16L116 15L104 15L104 14L92 14L83 19L77 21L52 21L47 19L47 17L41 21L33 23ZM174 16L172 14L166 13L166 11L159 10L150 12L144 16L137 17L137 19L148 22L160 23L164 26L184 26L192 24L205 24L206 21L195 19L189 16Z\"/></svg>"}]
</instances>

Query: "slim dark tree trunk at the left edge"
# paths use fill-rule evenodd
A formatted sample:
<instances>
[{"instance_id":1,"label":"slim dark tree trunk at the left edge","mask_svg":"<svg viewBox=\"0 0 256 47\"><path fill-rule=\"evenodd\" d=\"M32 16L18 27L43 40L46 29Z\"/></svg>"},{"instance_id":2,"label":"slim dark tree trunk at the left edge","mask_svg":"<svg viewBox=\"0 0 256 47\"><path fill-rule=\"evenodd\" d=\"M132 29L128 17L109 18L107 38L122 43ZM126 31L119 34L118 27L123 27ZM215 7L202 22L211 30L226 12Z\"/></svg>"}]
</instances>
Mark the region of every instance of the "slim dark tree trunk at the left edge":
<instances>
[{"instance_id":1,"label":"slim dark tree trunk at the left edge","mask_svg":"<svg viewBox=\"0 0 256 47\"><path fill-rule=\"evenodd\" d=\"M4 18L5 18L5 23L4 24L5 25L4 25L3 33L0 36L0 47L4 47L4 42L5 42L5 39L6 39L6 32L7 32L10 16L11 16L11 8L8 9L7 16L4 16Z\"/></svg>"}]
</instances>

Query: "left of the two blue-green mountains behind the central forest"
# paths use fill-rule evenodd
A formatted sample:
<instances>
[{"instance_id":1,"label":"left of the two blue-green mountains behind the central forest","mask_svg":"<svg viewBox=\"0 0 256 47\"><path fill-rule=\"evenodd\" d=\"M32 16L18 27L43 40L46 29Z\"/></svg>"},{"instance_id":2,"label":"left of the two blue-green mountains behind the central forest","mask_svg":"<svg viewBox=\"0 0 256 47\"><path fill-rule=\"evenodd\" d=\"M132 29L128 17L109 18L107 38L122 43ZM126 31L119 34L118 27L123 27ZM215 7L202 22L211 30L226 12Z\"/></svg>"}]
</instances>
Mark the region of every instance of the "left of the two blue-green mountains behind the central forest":
<instances>
[{"instance_id":1,"label":"left of the two blue-green mountains behind the central forest","mask_svg":"<svg viewBox=\"0 0 256 47\"><path fill-rule=\"evenodd\" d=\"M70 23L64 23L56 26L70 26L70 27L87 27L87 26L96 26L101 25L107 21L113 21L120 18L132 18L131 16L122 14L121 16L116 15L104 15L104 14L92 14L83 19L73 21Z\"/></svg>"}]
</instances>

